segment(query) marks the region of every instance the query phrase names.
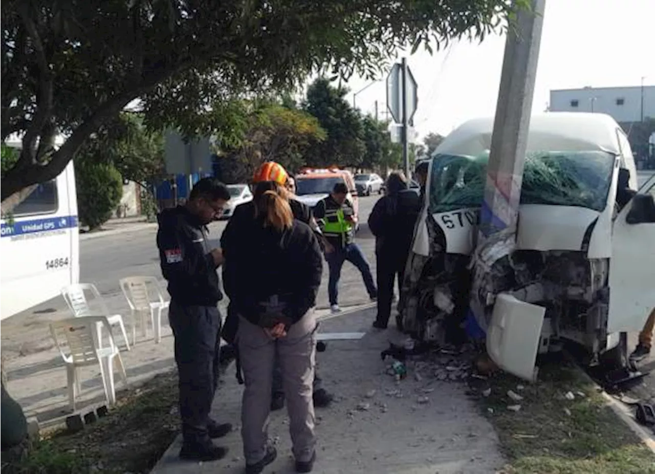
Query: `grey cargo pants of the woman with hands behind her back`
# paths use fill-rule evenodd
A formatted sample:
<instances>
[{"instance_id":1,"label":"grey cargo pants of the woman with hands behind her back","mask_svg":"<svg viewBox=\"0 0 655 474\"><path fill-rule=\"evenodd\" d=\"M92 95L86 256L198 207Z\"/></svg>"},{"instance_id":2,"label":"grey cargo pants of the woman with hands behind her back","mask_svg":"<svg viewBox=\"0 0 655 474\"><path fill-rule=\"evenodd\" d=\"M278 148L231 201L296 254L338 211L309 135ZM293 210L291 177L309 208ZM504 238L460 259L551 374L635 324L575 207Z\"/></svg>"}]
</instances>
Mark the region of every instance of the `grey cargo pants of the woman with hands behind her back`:
<instances>
[{"instance_id":1,"label":"grey cargo pants of the woman with hands behind her back","mask_svg":"<svg viewBox=\"0 0 655 474\"><path fill-rule=\"evenodd\" d=\"M241 406L241 435L246 464L261 461L268 443L273 368L277 359L289 413L293 456L309 461L316 448L312 380L316 365L314 310L292 325L286 337L271 340L263 328L240 317L237 333L245 389Z\"/></svg>"}]
</instances>

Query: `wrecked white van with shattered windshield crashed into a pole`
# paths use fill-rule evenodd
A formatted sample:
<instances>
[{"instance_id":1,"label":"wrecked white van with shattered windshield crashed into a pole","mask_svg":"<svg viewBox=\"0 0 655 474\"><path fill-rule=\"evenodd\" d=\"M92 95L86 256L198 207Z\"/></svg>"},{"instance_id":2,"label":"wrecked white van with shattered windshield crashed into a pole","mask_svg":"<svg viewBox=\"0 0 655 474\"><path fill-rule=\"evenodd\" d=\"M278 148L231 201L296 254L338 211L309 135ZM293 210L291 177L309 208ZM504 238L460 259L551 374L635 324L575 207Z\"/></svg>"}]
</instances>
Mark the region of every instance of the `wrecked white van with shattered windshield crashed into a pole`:
<instances>
[{"instance_id":1,"label":"wrecked white van with shattered windshield crashed into a pole","mask_svg":"<svg viewBox=\"0 0 655 474\"><path fill-rule=\"evenodd\" d=\"M517 233L478 242L492 130L493 118L468 121L430 159L403 288L405 330L444 344L449 326L473 317L495 363L527 380L538 353L565 340L585 347L590 365L624 363L627 332L655 307L655 178L637 190L612 117L535 115ZM617 193L629 196L622 208Z\"/></svg>"}]
</instances>

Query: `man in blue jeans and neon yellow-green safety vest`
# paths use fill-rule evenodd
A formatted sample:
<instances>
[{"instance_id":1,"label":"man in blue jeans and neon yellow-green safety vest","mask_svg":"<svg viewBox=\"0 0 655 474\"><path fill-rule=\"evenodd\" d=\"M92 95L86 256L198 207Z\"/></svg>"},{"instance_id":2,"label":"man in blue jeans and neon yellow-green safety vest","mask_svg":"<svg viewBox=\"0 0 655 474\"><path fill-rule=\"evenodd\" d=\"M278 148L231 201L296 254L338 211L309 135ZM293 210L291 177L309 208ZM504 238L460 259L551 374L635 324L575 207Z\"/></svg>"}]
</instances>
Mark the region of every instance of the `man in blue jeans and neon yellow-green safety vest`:
<instances>
[{"instance_id":1,"label":"man in blue jeans and neon yellow-green safety vest","mask_svg":"<svg viewBox=\"0 0 655 474\"><path fill-rule=\"evenodd\" d=\"M314 208L314 217L321 227L324 237L329 243L326 246L325 257L329 266L329 282L327 293L329 295L330 309L339 313L338 290L341 267L347 260L362 273L364 285L371 301L377 300L377 288L371 274L371 267L362 253L362 248L354 243L357 220L352 203L346 199L348 188L345 182L335 184L332 193Z\"/></svg>"}]
</instances>

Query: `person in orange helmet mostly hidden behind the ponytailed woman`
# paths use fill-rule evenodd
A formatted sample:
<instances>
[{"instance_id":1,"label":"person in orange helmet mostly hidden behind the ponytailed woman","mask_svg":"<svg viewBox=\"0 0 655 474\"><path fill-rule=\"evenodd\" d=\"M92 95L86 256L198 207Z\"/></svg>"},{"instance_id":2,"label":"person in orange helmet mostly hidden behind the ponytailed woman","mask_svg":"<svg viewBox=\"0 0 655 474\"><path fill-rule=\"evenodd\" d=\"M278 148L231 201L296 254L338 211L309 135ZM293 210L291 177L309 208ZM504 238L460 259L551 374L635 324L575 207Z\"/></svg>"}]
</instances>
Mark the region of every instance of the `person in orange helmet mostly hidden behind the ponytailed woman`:
<instances>
[{"instance_id":1,"label":"person in orange helmet mostly hidden behind the ponytailed woman","mask_svg":"<svg viewBox=\"0 0 655 474\"><path fill-rule=\"evenodd\" d=\"M331 246L329 245L329 243L327 243L326 239L324 238L320 230L320 227L316 223L316 220L314 219L314 216L312 214L312 210L307 205L301 203L300 201L297 201L296 199L293 199L294 189L291 188L292 180L293 178L289 176L288 172L284 169L284 167L282 167L282 165L275 163L274 161L267 161L266 163L263 163L263 165L261 165L257 169L257 171L255 171L252 182L253 184L259 186L265 186L267 182L276 182L278 185L283 186L285 189L287 189L287 191L290 193L289 205L291 207L291 211L293 212L293 218L307 224L314 231L314 233L316 233L316 236L318 237L318 241L321 243L324 250L326 250L327 248L327 251L329 252L329 247ZM227 227L225 227L225 231L223 231L223 235L221 236L221 248L223 249L224 256L226 254L226 250L227 250L227 254L229 254L229 248L231 242L234 241L234 239L238 239L238 235L234 235L233 232L231 231L230 223L234 222L235 219L237 221L239 219L252 219L254 214L255 214L255 206L252 201L249 203L238 205L236 209L234 209L233 216L230 222L227 224ZM229 261L229 257L226 260ZM229 265L229 262L227 263L227 265ZM224 279L224 284L227 285L227 283L228 282L226 282ZM227 288L226 288L226 292L229 295L229 290ZM238 328L238 317L236 317L234 311L231 311L230 307L228 307L227 319L225 321L225 326L223 328L223 339L231 345L233 345L237 328ZM334 399L333 395L327 392L326 389L324 389L321 385L322 385L321 378L318 376L318 373L315 370L313 399L314 399L314 406L317 406L319 408L329 405L331 401ZM282 387L282 374L280 373L279 366L276 365L276 368L273 372L271 410L280 410L282 407L284 407L284 389Z\"/></svg>"}]
</instances>

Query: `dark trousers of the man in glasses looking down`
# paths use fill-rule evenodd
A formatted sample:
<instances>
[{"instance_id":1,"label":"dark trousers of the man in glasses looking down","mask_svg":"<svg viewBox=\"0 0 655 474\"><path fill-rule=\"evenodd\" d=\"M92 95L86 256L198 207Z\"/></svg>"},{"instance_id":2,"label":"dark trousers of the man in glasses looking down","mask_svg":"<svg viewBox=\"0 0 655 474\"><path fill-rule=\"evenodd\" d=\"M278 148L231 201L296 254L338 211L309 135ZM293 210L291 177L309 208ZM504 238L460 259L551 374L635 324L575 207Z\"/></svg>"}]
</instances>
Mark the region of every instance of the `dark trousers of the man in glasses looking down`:
<instances>
[{"instance_id":1,"label":"dark trousers of the man in glasses looking down","mask_svg":"<svg viewBox=\"0 0 655 474\"><path fill-rule=\"evenodd\" d=\"M221 313L215 306L170 303L179 374L179 414L185 443L205 443L218 385Z\"/></svg>"}]
</instances>

